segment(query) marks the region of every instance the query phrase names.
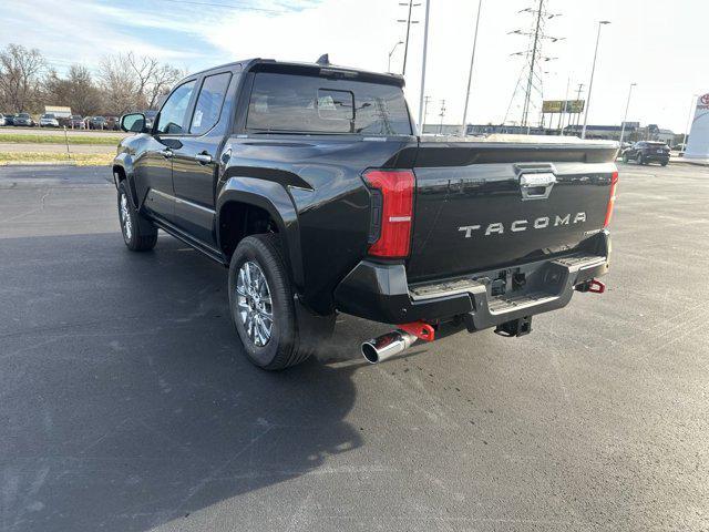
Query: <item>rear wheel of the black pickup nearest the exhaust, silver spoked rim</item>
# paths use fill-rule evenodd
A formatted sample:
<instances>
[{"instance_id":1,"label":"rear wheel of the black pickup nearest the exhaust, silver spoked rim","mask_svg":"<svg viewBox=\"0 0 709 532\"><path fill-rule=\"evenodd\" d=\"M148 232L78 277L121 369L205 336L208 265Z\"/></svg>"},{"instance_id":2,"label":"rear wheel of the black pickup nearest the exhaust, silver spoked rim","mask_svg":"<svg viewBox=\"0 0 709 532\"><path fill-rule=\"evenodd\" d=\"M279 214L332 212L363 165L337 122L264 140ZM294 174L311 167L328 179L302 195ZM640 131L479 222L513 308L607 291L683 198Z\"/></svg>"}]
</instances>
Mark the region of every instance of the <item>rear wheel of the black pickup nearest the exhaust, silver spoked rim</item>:
<instances>
[{"instance_id":1,"label":"rear wheel of the black pickup nearest the exhaust, silver spoked rim","mask_svg":"<svg viewBox=\"0 0 709 532\"><path fill-rule=\"evenodd\" d=\"M315 351L316 337L332 332L335 315L305 319L307 310L296 305L278 236L244 238L229 264L229 308L246 356L259 368L300 364Z\"/></svg>"}]
</instances>

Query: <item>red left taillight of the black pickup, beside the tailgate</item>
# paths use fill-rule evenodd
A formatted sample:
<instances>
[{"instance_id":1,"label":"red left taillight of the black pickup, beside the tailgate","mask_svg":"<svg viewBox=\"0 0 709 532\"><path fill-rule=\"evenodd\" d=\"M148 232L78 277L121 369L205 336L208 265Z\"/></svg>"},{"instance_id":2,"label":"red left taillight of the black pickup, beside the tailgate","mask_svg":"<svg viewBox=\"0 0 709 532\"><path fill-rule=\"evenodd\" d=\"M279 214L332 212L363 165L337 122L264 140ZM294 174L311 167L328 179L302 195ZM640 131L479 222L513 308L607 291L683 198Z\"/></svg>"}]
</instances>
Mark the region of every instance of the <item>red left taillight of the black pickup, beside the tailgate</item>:
<instances>
[{"instance_id":1,"label":"red left taillight of the black pickup, beside the tailgate","mask_svg":"<svg viewBox=\"0 0 709 532\"><path fill-rule=\"evenodd\" d=\"M372 188L372 227L369 254L401 258L409 255L413 215L413 172L370 170L364 181Z\"/></svg>"}]
</instances>

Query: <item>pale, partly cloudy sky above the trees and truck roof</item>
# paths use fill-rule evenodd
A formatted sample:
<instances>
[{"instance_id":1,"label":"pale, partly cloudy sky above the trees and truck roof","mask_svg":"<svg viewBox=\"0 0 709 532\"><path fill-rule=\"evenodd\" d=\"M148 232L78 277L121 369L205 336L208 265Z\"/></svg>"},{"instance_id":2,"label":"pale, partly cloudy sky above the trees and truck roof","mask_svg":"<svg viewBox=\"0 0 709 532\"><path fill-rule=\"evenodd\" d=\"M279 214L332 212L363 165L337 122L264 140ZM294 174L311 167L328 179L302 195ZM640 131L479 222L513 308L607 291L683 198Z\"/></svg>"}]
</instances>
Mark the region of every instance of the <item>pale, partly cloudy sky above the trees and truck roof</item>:
<instances>
[{"instance_id":1,"label":"pale, partly cloudy sky above the trees and truck roof","mask_svg":"<svg viewBox=\"0 0 709 532\"><path fill-rule=\"evenodd\" d=\"M51 65L95 65L106 53L133 50L187 70L251 57L315 61L329 52L337 64L387 69L389 50L404 37L405 0L6 0L0 44L39 48ZM424 4L425 0L415 0ZM460 123L472 50L477 0L430 0L429 68L425 93L429 122L446 101L446 123ZM467 122L500 123L510 105L523 59L524 37L507 34L530 27L517 11L534 0L483 0ZM424 6L414 8L423 22ZM548 0L561 13L545 42L544 98L562 100L587 88L597 21L602 30L589 123L619 124L628 85L636 82L629 121L656 123L681 132L692 94L709 92L709 0ZM412 27L407 95L418 113L423 23ZM392 57L400 71L403 47ZM516 102L515 102L516 103ZM511 110L508 120L520 120Z\"/></svg>"}]
</instances>

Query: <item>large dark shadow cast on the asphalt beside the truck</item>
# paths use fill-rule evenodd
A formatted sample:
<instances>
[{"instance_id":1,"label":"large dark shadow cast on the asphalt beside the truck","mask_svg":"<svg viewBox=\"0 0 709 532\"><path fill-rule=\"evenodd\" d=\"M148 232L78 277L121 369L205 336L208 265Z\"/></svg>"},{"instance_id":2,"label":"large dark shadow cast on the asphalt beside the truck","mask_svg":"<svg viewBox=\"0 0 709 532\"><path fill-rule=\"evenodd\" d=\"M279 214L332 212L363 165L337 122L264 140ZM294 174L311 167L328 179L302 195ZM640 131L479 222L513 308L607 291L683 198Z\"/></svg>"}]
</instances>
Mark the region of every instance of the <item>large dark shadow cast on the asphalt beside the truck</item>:
<instances>
[{"instance_id":1,"label":"large dark shadow cast on the asphalt beside the truck","mask_svg":"<svg viewBox=\"0 0 709 532\"><path fill-rule=\"evenodd\" d=\"M183 244L132 254L120 235L90 234L3 246L8 530L179 529L233 498L266 514L257 490L362 446L345 420L359 365L254 368L228 320L226 270ZM319 358L348 357L331 344Z\"/></svg>"}]
</instances>

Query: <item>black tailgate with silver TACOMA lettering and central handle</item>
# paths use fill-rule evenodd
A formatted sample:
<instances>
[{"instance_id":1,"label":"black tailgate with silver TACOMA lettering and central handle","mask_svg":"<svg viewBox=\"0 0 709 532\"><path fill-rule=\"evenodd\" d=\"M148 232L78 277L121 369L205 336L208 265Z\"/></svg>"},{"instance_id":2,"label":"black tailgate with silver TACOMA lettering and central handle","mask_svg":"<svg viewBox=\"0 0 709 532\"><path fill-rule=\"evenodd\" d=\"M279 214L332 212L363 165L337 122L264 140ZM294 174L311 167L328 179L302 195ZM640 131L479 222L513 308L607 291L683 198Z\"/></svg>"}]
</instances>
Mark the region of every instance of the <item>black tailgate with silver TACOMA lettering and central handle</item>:
<instances>
[{"instance_id":1,"label":"black tailgate with silver TACOMA lettering and central handle","mask_svg":"<svg viewBox=\"0 0 709 532\"><path fill-rule=\"evenodd\" d=\"M410 282L569 250L605 222L613 144L421 142Z\"/></svg>"}]
</instances>

